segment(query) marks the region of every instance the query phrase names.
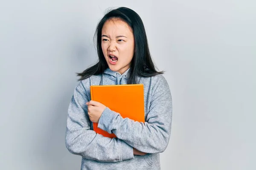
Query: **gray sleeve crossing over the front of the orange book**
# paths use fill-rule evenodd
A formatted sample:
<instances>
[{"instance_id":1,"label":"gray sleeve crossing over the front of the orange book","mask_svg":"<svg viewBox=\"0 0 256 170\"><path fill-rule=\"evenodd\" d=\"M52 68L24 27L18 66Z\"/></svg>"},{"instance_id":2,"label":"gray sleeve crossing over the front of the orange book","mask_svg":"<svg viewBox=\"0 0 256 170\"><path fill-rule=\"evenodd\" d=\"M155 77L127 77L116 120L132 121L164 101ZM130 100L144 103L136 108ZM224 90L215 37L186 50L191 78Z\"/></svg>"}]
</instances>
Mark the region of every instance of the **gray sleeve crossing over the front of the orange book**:
<instances>
[{"instance_id":1,"label":"gray sleeve crossing over the front of the orange book","mask_svg":"<svg viewBox=\"0 0 256 170\"><path fill-rule=\"evenodd\" d=\"M172 123L172 96L162 76L152 88L152 97L146 122L122 118L119 113L105 108L98 127L114 133L132 147L145 153L163 152L168 143Z\"/></svg>"}]
</instances>

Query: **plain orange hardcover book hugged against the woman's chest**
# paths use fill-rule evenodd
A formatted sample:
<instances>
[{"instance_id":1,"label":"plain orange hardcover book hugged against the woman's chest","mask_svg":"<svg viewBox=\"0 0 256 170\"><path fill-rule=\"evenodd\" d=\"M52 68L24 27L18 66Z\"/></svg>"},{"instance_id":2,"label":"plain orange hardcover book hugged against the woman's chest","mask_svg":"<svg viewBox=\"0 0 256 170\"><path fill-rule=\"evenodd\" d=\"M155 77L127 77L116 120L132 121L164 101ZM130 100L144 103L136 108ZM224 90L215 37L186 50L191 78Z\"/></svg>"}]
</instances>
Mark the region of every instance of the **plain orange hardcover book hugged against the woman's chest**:
<instances>
[{"instance_id":1,"label":"plain orange hardcover book hugged against the woman's chest","mask_svg":"<svg viewBox=\"0 0 256 170\"><path fill-rule=\"evenodd\" d=\"M145 122L143 84L92 85L90 93L92 100L102 103L123 118ZM116 137L115 134L98 128L98 123L93 122L93 130L109 138Z\"/></svg>"}]
</instances>

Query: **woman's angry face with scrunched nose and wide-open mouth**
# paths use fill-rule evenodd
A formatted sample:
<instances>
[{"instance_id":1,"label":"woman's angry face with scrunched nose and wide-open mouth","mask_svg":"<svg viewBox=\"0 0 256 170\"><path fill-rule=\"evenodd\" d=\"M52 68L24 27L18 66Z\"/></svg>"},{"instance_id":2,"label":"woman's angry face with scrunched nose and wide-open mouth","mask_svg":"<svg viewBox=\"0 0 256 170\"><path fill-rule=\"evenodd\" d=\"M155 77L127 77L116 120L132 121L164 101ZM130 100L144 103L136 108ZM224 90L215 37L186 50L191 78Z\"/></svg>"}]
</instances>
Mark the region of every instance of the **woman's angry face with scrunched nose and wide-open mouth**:
<instances>
[{"instance_id":1,"label":"woman's angry face with scrunched nose and wide-open mouth","mask_svg":"<svg viewBox=\"0 0 256 170\"><path fill-rule=\"evenodd\" d=\"M112 71L123 74L131 66L134 56L134 36L122 20L112 19L102 27L102 51Z\"/></svg>"}]
</instances>

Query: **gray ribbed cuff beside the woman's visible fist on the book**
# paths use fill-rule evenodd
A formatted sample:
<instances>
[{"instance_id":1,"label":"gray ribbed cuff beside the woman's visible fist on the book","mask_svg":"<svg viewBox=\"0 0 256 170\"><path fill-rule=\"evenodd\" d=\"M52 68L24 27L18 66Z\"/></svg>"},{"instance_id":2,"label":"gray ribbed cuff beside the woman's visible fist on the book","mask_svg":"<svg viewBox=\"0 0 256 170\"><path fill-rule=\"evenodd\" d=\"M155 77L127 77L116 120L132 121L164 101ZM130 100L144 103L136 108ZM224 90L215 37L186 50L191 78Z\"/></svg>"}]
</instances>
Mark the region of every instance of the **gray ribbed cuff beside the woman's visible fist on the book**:
<instances>
[{"instance_id":1,"label":"gray ribbed cuff beside the woman's visible fist on the book","mask_svg":"<svg viewBox=\"0 0 256 170\"><path fill-rule=\"evenodd\" d=\"M102 130L107 131L108 133L112 133L111 130L108 130L108 127L116 114L117 113L111 111L108 107L106 107L99 118L98 127Z\"/></svg>"}]
</instances>

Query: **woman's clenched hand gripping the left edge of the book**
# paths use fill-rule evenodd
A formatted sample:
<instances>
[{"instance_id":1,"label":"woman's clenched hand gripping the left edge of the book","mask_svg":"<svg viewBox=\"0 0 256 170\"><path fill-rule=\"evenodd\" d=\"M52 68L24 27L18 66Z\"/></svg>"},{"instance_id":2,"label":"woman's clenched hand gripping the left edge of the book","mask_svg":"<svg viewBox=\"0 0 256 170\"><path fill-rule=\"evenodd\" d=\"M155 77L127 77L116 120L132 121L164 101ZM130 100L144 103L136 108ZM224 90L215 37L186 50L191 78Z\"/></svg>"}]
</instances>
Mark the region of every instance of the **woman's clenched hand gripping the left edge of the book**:
<instances>
[{"instance_id":1,"label":"woman's clenched hand gripping the left edge of the book","mask_svg":"<svg viewBox=\"0 0 256 170\"><path fill-rule=\"evenodd\" d=\"M99 118L102 115L102 112L105 110L106 106L93 100L87 102L86 105L88 105L88 115L90 121L98 123Z\"/></svg>"}]
</instances>

